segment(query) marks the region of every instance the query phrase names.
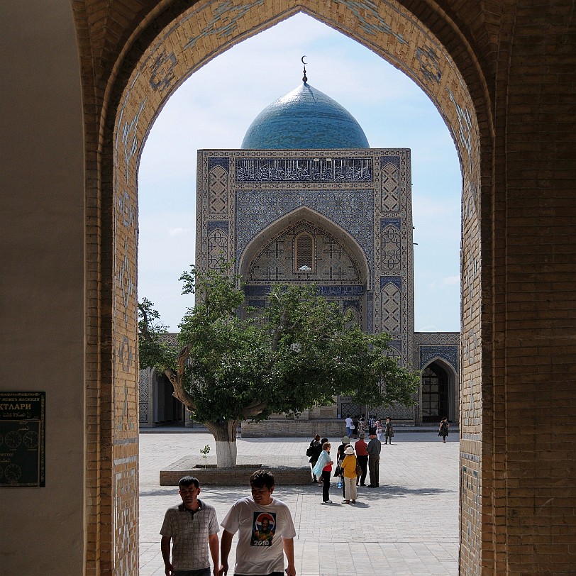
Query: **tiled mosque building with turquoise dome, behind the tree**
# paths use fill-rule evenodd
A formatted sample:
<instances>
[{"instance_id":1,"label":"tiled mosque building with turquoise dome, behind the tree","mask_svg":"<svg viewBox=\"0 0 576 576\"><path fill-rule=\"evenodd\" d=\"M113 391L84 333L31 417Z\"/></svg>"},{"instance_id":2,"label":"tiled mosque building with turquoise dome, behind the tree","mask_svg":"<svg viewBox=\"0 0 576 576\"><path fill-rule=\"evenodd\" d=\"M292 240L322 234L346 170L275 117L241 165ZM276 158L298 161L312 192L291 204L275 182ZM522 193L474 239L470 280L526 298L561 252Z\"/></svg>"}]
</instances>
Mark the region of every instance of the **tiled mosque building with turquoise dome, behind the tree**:
<instances>
[{"instance_id":1,"label":"tiled mosque building with turquoise dome, behind the tree","mask_svg":"<svg viewBox=\"0 0 576 576\"><path fill-rule=\"evenodd\" d=\"M304 77L255 118L240 149L199 150L196 182L201 272L233 258L246 302L257 308L272 284L314 283L363 330L388 333L401 365L422 373L415 406L360 406L338 397L292 426L282 415L243 423L243 435L308 435L314 421L349 414L458 422L460 333L414 331L409 149L370 148L355 118ZM163 377L140 372L141 427L186 421L175 402Z\"/></svg>"}]
</instances>

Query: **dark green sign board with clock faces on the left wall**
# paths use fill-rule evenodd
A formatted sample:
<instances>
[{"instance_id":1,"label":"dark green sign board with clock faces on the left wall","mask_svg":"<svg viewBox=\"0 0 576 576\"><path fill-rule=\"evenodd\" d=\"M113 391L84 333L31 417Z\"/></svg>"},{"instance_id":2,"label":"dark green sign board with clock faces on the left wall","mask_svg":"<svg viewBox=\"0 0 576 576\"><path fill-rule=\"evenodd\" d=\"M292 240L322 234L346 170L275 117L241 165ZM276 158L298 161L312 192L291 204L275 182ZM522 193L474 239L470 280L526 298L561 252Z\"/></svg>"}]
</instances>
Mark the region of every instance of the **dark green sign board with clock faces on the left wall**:
<instances>
[{"instance_id":1,"label":"dark green sign board with clock faces on the left wall","mask_svg":"<svg viewBox=\"0 0 576 576\"><path fill-rule=\"evenodd\" d=\"M0 487L44 487L45 392L0 392Z\"/></svg>"}]
</instances>

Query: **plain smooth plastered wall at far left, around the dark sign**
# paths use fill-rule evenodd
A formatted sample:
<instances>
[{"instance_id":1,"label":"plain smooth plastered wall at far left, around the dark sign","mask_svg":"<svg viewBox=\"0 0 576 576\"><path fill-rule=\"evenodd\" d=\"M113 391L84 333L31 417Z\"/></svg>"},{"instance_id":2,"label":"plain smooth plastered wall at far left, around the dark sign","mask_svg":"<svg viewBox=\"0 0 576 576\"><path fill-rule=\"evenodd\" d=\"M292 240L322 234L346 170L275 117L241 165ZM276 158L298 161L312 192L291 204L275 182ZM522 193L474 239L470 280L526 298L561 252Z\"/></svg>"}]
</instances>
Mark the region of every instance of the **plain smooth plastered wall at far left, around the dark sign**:
<instances>
[{"instance_id":1,"label":"plain smooth plastered wall at far left, around the dark sign","mask_svg":"<svg viewBox=\"0 0 576 576\"><path fill-rule=\"evenodd\" d=\"M31 4L0 4L10 23L0 35L0 393L45 392L45 487L0 487L0 572L78 576L87 539L80 70L70 3ZM4 468L5 443L0 453Z\"/></svg>"}]
</instances>

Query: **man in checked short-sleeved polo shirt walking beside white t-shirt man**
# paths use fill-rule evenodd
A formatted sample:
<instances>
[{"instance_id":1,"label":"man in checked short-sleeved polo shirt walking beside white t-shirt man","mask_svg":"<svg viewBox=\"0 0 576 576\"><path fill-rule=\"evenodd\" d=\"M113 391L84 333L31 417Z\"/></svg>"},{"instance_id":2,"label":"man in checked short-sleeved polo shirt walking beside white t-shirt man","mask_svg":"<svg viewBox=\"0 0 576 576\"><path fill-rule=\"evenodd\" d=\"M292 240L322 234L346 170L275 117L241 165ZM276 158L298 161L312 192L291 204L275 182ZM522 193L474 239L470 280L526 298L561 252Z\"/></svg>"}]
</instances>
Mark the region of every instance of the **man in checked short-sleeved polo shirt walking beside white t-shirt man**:
<instances>
[{"instance_id":1,"label":"man in checked short-sleeved polo shirt walking beside white t-shirt man","mask_svg":"<svg viewBox=\"0 0 576 576\"><path fill-rule=\"evenodd\" d=\"M178 482L182 504L167 509L160 529L160 550L166 576L210 576L208 551L218 576L218 519L216 510L198 499L201 492L194 476ZM170 560L172 541L172 560Z\"/></svg>"}]
</instances>

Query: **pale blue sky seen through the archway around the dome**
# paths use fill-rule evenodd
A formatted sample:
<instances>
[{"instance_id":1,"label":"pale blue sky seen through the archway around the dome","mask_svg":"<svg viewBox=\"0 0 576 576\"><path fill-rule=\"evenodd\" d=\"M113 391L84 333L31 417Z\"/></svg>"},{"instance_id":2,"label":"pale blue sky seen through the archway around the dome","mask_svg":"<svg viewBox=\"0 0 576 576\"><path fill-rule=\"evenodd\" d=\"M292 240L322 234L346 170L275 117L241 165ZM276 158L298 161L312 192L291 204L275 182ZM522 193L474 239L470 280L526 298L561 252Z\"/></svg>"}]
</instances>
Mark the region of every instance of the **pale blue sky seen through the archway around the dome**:
<instances>
[{"instance_id":1,"label":"pale blue sky seen through the archway around the dome","mask_svg":"<svg viewBox=\"0 0 576 576\"><path fill-rule=\"evenodd\" d=\"M240 148L257 113L308 82L345 107L372 148L411 148L416 331L460 330L461 176L443 119L414 82L355 40L304 14L245 40L172 95L145 142L138 173L138 298L177 331L194 262L196 150Z\"/></svg>"}]
</instances>

